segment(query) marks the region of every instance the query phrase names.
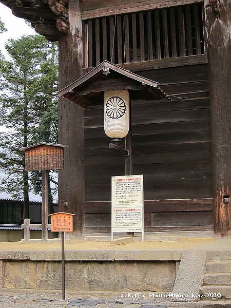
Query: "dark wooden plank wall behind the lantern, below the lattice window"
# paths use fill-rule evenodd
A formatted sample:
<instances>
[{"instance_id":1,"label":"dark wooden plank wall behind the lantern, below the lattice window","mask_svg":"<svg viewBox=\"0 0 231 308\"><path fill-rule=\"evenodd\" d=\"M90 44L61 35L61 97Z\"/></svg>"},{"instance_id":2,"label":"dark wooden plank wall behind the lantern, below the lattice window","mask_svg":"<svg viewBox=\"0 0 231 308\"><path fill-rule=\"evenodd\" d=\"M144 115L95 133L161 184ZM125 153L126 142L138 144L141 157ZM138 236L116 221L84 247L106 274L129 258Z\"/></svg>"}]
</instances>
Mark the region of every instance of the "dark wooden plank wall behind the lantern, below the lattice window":
<instances>
[{"instance_id":1,"label":"dark wooden plank wall behind the lantern, below the lattice window","mask_svg":"<svg viewBox=\"0 0 231 308\"><path fill-rule=\"evenodd\" d=\"M146 231L212 229L207 69L196 64L136 72L172 95L172 102L132 102L133 174L144 175ZM110 181L124 175L124 157L109 142L103 106L86 109L85 232L110 230Z\"/></svg>"}]
</instances>

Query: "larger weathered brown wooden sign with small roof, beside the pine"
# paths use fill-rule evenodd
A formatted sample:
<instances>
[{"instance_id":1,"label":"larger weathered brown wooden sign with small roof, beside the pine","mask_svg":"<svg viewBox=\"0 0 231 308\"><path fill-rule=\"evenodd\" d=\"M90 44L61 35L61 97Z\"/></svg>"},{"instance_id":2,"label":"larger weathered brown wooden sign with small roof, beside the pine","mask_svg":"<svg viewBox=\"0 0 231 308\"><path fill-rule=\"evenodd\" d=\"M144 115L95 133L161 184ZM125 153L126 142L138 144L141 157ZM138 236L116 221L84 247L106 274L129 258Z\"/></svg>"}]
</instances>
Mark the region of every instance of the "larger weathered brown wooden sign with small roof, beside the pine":
<instances>
[{"instance_id":1,"label":"larger weathered brown wooden sign with small roof, beside the pine","mask_svg":"<svg viewBox=\"0 0 231 308\"><path fill-rule=\"evenodd\" d=\"M64 169L64 147L67 146L41 142L20 149L25 151L25 170Z\"/></svg>"}]
</instances>

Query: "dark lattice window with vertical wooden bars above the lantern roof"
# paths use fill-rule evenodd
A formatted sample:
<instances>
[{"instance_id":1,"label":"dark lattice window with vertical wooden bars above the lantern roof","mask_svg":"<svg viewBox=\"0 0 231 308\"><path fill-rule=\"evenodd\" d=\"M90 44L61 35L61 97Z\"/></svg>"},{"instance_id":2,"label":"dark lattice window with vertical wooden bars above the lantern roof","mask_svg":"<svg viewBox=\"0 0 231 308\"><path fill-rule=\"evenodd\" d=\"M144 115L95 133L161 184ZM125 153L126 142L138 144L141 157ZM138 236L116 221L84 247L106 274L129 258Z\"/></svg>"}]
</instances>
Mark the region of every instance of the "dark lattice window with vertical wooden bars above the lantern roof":
<instances>
[{"instance_id":1,"label":"dark lattice window with vertical wooden bars above the lantern roof","mask_svg":"<svg viewBox=\"0 0 231 308\"><path fill-rule=\"evenodd\" d=\"M202 5L86 20L84 50L85 67L203 54Z\"/></svg>"}]
</instances>

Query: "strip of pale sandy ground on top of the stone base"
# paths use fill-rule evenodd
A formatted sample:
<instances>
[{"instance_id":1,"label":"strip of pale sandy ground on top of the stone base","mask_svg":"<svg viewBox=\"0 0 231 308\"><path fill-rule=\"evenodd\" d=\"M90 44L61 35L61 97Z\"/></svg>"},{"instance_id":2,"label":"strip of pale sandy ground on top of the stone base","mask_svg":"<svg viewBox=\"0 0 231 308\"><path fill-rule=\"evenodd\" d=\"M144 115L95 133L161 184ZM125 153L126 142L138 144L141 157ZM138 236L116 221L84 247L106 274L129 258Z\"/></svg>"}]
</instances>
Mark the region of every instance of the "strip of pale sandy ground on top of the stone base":
<instances>
[{"instance_id":1,"label":"strip of pale sandy ground on top of the stone base","mask_svg":"<svg viewBox=\"0 0 231 308\"><path fill-rule=\"evenodd\" d=\"M212 238L180 238L179 242L157 242L157 241L133 241L121 245L110 245L110 242L84 242L83 239L70 240L70 243L65 243L65 250L183 250L210 242L214 242ZM21 242L5 242L0 243L0 251L28 251L28 250L60 250L61 243L29 243Z\"/></svg>"}]
</instances>

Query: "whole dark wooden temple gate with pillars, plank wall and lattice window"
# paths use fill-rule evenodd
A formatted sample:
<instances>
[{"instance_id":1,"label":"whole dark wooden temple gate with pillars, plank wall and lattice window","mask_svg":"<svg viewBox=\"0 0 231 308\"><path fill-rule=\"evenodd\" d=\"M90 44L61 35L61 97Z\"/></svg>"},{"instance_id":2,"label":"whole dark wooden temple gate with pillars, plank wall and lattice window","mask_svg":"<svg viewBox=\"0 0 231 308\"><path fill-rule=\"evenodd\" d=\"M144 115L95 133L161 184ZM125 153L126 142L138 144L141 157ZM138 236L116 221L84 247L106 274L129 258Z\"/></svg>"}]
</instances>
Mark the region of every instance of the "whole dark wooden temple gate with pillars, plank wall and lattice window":
<instances>
[{"instance_id":1,"label":"whole dark wooden temple gate with pillars, plank wall and lattice window","mask_svg":"<svg viewBox=\"0 0 231 308\"><path fill-rule=\"evenodd\" d=\"M133 174L144 175L145 231L213 230L230 238L230 5L227 0L0 0L59 40L60 89L107 60L160 83L172 102L132 101ZM60 98L59 206L73 236L110 231L110 179L124 159L108 149L103 107Z\"/></svg>"}]
</instances>

